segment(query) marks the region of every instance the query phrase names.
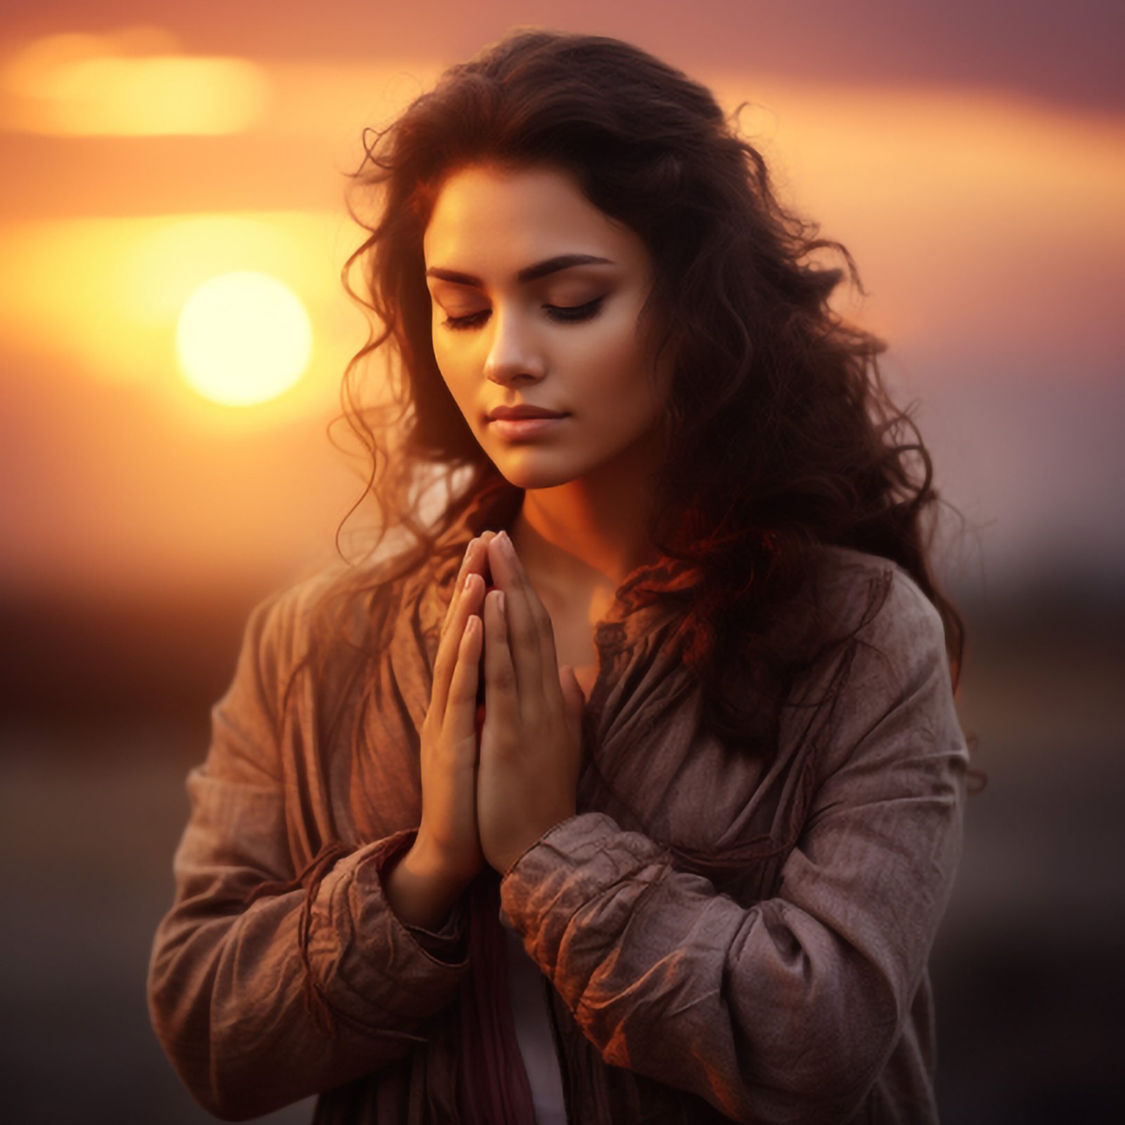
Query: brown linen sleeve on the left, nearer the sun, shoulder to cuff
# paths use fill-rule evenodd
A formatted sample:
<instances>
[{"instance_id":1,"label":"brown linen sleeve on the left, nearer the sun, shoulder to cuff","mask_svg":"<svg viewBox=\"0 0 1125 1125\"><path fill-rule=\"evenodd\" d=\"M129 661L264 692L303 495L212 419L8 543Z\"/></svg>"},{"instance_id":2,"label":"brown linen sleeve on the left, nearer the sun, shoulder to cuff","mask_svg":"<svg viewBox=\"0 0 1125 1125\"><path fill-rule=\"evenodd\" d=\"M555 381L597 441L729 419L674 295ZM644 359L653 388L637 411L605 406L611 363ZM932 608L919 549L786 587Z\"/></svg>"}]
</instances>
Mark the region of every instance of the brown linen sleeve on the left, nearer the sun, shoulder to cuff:
<instances>
[{"instance_id":1,"label":"brown linen sleeve on the left, nearer the sun, shoulder to cuff","mask_svg":"<svg viewBox=\"0 0 1125 1125\"><path fill-rule=\"evenodd\" d=\"M158 1038L225 1120L405 1055L468 966L462 902L429 933L405 926L384 894L381 872L415 829L322 849L304 878L294 870L277 718L296 615L284 595L251 615L206 760L188 775L174 900L148 966Z\"/></svg>"}]
</instances>

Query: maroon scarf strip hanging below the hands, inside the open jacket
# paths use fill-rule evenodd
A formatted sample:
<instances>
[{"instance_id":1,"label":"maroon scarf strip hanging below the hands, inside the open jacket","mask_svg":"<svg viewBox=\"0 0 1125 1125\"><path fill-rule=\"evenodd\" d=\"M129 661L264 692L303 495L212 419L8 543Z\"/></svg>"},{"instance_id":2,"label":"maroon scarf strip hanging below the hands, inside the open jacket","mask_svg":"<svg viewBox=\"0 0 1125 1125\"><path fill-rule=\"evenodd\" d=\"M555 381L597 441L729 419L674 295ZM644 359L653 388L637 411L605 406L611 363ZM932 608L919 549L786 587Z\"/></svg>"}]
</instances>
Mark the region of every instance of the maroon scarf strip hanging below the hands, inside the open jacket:
<instances>
[{"instance_id":1,"label":"maroon scarf strip hanging below the hands, inside the open jacket","mask_svg":"<svg viewBox=\"0 0 1125 1125\"><path fill-rule=\"evenodd\" d=\"M507 993L500 874L493 867L485 867L469 886L469 966L459 1004L464 1119L467 1125L536 1125Z\"/></svg>"}]
</instances>

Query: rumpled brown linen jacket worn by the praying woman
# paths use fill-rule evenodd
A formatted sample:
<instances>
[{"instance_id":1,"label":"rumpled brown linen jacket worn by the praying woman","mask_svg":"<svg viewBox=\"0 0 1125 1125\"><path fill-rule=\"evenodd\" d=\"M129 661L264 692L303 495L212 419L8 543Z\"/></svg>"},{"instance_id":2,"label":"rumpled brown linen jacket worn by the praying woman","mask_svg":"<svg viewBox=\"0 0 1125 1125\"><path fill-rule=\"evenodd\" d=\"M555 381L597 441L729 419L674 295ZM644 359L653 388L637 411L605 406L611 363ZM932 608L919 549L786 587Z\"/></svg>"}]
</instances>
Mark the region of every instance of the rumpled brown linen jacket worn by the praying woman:
<instances>
[{"instance_id":1,"label":"rumpled brown linen jacket worn by the praying woman","mask_svg":"<svg viewBox=\"0 0 1125 1125\"><path fill-rule=\"evenodd\" d=\"M483 496L448 542L510 526L511 501ZM937 1120L927 961L968 750L934 608L884 559L830 559L820 593L842 621L881 608L794 685L767 763L700 729L674 615L619 601L595 630L578 812L500 880L498 920L551 986L573 1122ZM357 672L341 642L338 669L288 693L331 575L251 615L188 776L148 975L158 1036L219 1117L320 1094L322 1125L466 1119L471 896L431 933L400 922L380 875L420 820L459 561L371 596L348 639L386 640L377 664Z\"/></svg>"}]
</instances>

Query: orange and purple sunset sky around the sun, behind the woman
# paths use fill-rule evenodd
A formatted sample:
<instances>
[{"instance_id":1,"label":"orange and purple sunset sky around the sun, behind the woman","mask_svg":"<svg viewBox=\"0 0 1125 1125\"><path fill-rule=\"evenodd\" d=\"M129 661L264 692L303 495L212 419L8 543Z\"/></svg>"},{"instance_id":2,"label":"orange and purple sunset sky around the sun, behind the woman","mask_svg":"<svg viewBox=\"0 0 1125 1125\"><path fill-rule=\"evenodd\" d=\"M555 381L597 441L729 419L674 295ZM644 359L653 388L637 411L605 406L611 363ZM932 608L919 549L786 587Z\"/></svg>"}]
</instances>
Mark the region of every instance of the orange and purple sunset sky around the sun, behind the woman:
<instances>
[{"instance_id":1,"label":"orange and purple sunset sky around the sun, behind the woman","mask_svg":"<svg viewBox=\"0 0 1125 1125\"><path fill-rule=\"evenodd\" d=\"M0 593L269 583L331 552L359 484L325 428L366 336L339 277L360 241L343 173L364 126L533 24L630 39L727 109L752 102L744 132L784 198L855 255L868 297L847 310L889 340L889 381L918 400L937 483L979 529L971 583L979 551L992 584L1123 573L1122 10L9 10ZM259 405L209 400L178 360L186 303L232 271L287 287L310 325L304 376Z\"/></svg>"}]
</instances>

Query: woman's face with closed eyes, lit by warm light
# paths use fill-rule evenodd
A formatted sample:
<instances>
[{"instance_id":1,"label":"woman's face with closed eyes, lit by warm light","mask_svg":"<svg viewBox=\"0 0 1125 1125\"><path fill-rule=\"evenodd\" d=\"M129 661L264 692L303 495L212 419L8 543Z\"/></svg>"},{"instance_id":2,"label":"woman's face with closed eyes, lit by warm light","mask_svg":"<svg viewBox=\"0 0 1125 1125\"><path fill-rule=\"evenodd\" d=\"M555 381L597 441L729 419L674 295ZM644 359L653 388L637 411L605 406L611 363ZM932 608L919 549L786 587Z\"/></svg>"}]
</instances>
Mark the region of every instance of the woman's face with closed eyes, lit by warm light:
<instances>
[{"instance_id":1,"label":"woman's face with closed eyes, lit by warm light","mask_svg":"<svg viewBox=\"0 0 1125 1125\"><path fill-rule=\"evenodd\" d=\"M654 267L633 231L562 172L471 165L441 189L423 250L438 367L507 480L550 488L644 456L667 378L652 386L638 334ZM564 416L489 418L520 405Z\"/></svg>"}]
</instances>

